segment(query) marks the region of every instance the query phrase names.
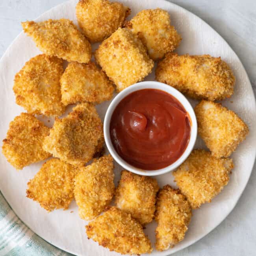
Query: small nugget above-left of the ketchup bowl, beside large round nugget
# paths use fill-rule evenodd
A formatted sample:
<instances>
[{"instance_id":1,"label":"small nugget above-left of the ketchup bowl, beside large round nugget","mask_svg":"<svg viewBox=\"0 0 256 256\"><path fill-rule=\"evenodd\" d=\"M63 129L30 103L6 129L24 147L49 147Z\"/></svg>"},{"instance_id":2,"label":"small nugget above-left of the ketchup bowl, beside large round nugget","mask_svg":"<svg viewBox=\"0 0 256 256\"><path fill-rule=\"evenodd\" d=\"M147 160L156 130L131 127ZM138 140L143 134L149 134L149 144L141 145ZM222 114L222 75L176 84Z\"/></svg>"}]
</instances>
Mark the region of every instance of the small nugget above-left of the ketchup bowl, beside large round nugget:
<instances>
[{"instance_id":1,"label":"small nugget above-left of the ketchup bowl, beside large round nugget","mask_svg":"<svg viewBox=\"0 0 256 256\"><path fill-rule=\"evenodd\" d=\"M70 62L60 80L64 105L76 102L100 104L113 96L113 83L95 63Z\"/></svg>"}]
</instances>

